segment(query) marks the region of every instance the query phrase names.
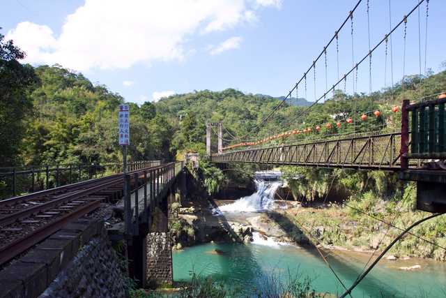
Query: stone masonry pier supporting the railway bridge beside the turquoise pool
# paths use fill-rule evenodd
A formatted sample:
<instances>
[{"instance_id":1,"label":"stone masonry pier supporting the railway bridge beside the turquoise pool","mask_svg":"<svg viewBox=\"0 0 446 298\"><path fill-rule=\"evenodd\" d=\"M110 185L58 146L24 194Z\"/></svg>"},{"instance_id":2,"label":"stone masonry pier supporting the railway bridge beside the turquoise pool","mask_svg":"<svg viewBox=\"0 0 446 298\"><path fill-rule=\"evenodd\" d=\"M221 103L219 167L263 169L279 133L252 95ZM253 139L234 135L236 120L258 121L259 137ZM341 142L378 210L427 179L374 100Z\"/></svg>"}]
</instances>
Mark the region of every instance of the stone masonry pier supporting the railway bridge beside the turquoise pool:
<instances>
[{"instance_id":1,"label":"stone masonry pier supporting the railway bridge beside the turquoise pool","mask_svg":"<svg viewBox=\"0 0 446 298\"><path fill-rule=\"evenodd\" d=\"M147 237L147 283L153 287L171 285L171 237L169 232L151 232Z\"/></svg>"}]
</instances>

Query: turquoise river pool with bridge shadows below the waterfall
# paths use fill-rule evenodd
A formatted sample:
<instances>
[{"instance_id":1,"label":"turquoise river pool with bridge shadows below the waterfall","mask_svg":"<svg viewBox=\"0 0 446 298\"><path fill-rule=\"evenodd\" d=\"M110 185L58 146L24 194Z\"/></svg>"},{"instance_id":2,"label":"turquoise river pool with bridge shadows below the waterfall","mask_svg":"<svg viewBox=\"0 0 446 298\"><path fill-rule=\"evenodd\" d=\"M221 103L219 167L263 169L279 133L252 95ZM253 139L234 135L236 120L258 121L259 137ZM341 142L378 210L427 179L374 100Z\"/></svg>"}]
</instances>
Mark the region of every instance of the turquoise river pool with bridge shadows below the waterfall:
<instances>
[{"instance_id":1,"label":"turquoise river pool with bridge shadows below the waterfall","mask_svg":"<svg viewBox=\"0 0 446 298\"><path fill-rule=\"evenodd\" d=\"M215 253L215 248L226 254ZM345 251L324 251L327 261L346 288L362 274L370 255ZM337 281L321 255L313 248L267 246L261 244L199 244L172 252L174 281L190 281L192 269L203 276L224 274L233 283L243 285L247 296L259 283L258 276L287 267L303 276L315 278L311 283L316 292L341 295L344 287ZM374 261L371 260L369 265ZM420 265L411 271L399 267ZM411 258L409 260L380 260L378 265L353 290L353 297L446 297L446 264Z\"/></svg>"}]
</instances>

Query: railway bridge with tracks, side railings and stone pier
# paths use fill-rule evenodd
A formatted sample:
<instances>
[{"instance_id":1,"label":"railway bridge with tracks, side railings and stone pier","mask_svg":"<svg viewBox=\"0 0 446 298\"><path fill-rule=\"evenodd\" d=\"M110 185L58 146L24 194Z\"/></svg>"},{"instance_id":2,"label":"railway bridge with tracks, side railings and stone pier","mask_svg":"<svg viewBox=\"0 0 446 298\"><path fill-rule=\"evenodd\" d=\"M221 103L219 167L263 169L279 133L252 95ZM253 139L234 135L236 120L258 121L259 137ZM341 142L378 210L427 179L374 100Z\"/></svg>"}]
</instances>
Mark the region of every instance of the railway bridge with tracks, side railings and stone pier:
<instances>
[{"instance_id":1,"label":"railway bridge with tracks, side railings and stone pier","mask_svg":"<svg viewBox=\"0 0 446 298\"><path fill-rule=\"evenodd\" d=\"M109 174L101 166L103 177L1 200L0 297L38 297L44 291L43 297L68 297L76 291L110 297L124 288L118 258L129 261L128 276L142 288L171 284L169 204L185 197L184 167L184 162L137 162L128 165L126 174ZM82 172L70 170L66 181L71 176L81 180ZM34 186L34 179L41 180L39 172L46 176L50 170L1 176L31 179ZM103 211L101 205L114 208ZM112 243L121 243L120 256L111 250Z\"/></svg>"}]
</instances>

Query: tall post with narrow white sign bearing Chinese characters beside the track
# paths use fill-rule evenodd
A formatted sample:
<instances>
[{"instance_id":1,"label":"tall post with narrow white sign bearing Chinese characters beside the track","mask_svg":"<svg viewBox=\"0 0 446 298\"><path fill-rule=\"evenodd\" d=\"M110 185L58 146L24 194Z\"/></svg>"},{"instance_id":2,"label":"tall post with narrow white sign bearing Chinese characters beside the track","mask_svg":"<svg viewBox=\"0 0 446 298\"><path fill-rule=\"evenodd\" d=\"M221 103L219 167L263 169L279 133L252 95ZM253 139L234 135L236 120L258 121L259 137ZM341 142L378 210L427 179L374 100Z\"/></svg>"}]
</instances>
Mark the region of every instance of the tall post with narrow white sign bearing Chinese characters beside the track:
<instances>
[{"instance_id":1,"label":"tall post with narrow white sign bearing Chinese characters beside the track","mask_svg":"<svg viewBox=\"0 0 446 298\"><path fill-rule=\"evenodd\" d=\"M130 117L128 105L119 105L118 119L119 146L123 146L125 234L129 235L132 234L132 202L130 199L130 179L127 177L127 146L130 144Z\"/></svg>"}]
</instances>

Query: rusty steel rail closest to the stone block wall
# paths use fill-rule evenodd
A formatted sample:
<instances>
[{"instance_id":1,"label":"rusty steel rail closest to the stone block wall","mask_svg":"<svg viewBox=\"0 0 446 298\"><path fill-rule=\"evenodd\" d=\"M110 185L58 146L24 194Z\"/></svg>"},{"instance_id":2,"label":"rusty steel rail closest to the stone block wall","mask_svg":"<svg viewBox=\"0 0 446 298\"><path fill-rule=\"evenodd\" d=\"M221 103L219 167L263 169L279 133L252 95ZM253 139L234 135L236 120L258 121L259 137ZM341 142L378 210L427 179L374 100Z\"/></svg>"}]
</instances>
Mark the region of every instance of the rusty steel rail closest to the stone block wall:
<instances>
[{"instance_id":1,"label":"rusty steel rail closest to the stone block wall","mask_svg":"<svg viewBox=\"0 0 446 298\"><path fill-rule=\"evenodd\" d=\"M61 230L68 223L75 221L77 218L84 216L85 214L90 213L91 211L100 207L100 200L95 200L89 204L86 204L84 207L76 209L75 211L62 216L61 218L52 221L51 223L47 223L43 225L33 232L30 232L24 237L11 241L5 246L0 247L0 265L3 265L4 262L7 262L11 258L14 258L16 255L26 251L26 249L30 248L34 244L37 244L39 241L49 237L55 232Z\"/></svg>"}]
</instances>

